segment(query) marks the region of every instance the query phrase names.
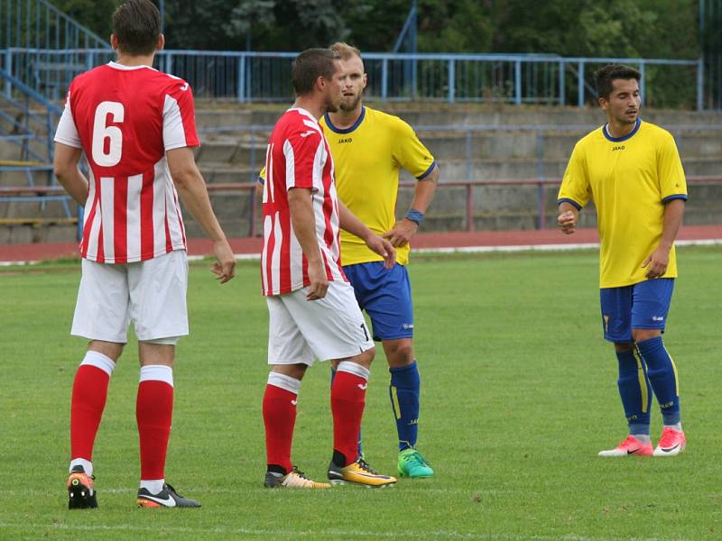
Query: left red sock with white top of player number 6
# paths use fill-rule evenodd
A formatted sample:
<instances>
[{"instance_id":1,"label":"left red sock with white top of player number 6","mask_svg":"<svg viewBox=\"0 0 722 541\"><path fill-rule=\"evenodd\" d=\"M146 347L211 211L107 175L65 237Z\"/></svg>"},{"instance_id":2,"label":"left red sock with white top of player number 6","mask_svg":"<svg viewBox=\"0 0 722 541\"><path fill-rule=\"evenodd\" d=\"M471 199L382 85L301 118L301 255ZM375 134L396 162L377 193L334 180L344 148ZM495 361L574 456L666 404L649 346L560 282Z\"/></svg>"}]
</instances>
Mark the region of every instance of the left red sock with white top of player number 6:
<instances>
[{"instance_id":1,"label":"left red sock with white top of player number 6","mask_svg":"<svg viewBox=\"0 0 722 541\"><path fill-rule=\"evenodd\" d=\"M88 352L73 381L70 402L70 458L93 460L100 418L106 408L107 388L115 363L106 355Z\"/></svg>"}]
</instances>

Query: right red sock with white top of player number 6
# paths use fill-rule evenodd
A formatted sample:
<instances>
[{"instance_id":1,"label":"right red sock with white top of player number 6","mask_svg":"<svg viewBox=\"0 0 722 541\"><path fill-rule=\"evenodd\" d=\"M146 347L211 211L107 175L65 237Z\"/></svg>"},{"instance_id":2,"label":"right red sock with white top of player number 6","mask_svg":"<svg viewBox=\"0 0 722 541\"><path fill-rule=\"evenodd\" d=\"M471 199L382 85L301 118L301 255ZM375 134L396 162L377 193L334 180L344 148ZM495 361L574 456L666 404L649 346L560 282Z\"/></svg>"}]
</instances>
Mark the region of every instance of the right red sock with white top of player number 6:
<instances>
[{"instance_id":1,"label":"right red sock with white top of player number 6","mask_svg":"<svg viewBox=\"0 0 722 541\"><path fill-rule=\"evenodd\" d=\"M141 449L141 479L165 478L165 456L173 417L172 369L148 365L141 368L135 418Z\"/></svg>"}]
</instances>

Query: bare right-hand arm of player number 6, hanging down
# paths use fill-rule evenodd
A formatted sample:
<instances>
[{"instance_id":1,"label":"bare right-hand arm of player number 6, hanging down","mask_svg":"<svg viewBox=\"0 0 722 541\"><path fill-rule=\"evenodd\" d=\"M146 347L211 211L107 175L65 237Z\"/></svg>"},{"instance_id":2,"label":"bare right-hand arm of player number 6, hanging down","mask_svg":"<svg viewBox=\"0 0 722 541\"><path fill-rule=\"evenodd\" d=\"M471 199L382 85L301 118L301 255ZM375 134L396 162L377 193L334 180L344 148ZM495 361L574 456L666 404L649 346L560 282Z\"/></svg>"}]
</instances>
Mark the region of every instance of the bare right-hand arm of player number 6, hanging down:
<instances>
[{"instance_id":1,"label":"bare right-hand arm of player number 6, hanging down","mask_svg":"<svg viewBox=\"0 0 722 541\"><path fill-rule=\"evenodd\" d=\"M220 283L225 284L236 276L236 257L210 206L206 182L196 166L193 151L189 147L182 147L168 151L166 157L180 199L213 241L213 253L218 261L213 264L211 271L216 274Z\"/></svg>"}]
</instances>

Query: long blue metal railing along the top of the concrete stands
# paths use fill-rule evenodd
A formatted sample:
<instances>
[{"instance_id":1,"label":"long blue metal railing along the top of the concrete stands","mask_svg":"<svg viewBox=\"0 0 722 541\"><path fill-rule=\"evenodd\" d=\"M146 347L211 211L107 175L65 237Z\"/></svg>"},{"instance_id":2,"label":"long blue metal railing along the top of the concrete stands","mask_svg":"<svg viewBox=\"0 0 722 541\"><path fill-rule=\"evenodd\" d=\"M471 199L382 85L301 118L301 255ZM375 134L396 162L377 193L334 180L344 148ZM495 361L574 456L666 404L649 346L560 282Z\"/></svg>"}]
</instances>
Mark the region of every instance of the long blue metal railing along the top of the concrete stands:
<instances>
[{"instance_id":1,"label":"long blue metal railing along the top of the concrete stands","mask_svg":"<svg viewBox=\"0 0 722 541\"><path fill-rule=\"evenodd\" d=\"M295 52L162 50L158 69L190 82L196 96L238 102L292 100ZM58 99L73 77L108 60L106 48L0 50L6 71ZM377 101L430 100L585 105L595 98L594 70L609 62L643 74L643 101L654 106L705 107L702 60L564 58L533 54L366 53L366 96ZM412 69L410 69L412 68ZM9 88L5 89L8 93Z\"/></svg>"}]
</instances>

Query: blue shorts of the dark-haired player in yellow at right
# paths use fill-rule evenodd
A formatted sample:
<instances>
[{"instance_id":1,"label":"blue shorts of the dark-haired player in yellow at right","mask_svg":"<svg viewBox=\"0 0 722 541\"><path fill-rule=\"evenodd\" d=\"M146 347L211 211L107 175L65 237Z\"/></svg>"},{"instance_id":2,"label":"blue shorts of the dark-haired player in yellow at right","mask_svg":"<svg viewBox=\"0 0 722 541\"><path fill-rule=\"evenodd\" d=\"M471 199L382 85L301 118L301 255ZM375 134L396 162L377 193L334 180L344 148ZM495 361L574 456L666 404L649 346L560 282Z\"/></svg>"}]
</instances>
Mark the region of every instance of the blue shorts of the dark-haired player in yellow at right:
<instances>
[{"instance_id":1,"label":"blue shorts of the dark-haired player in yellow at right","mask_svg":"<svg viewBox=\"0 0 722 541\"><path fill-rule=\"evenodd\" d=\"M663 333L673 289L672 278L600 289L605 339L619 344L633 342L632 329L660 329Z\"/></svg>"}]
</instances>

